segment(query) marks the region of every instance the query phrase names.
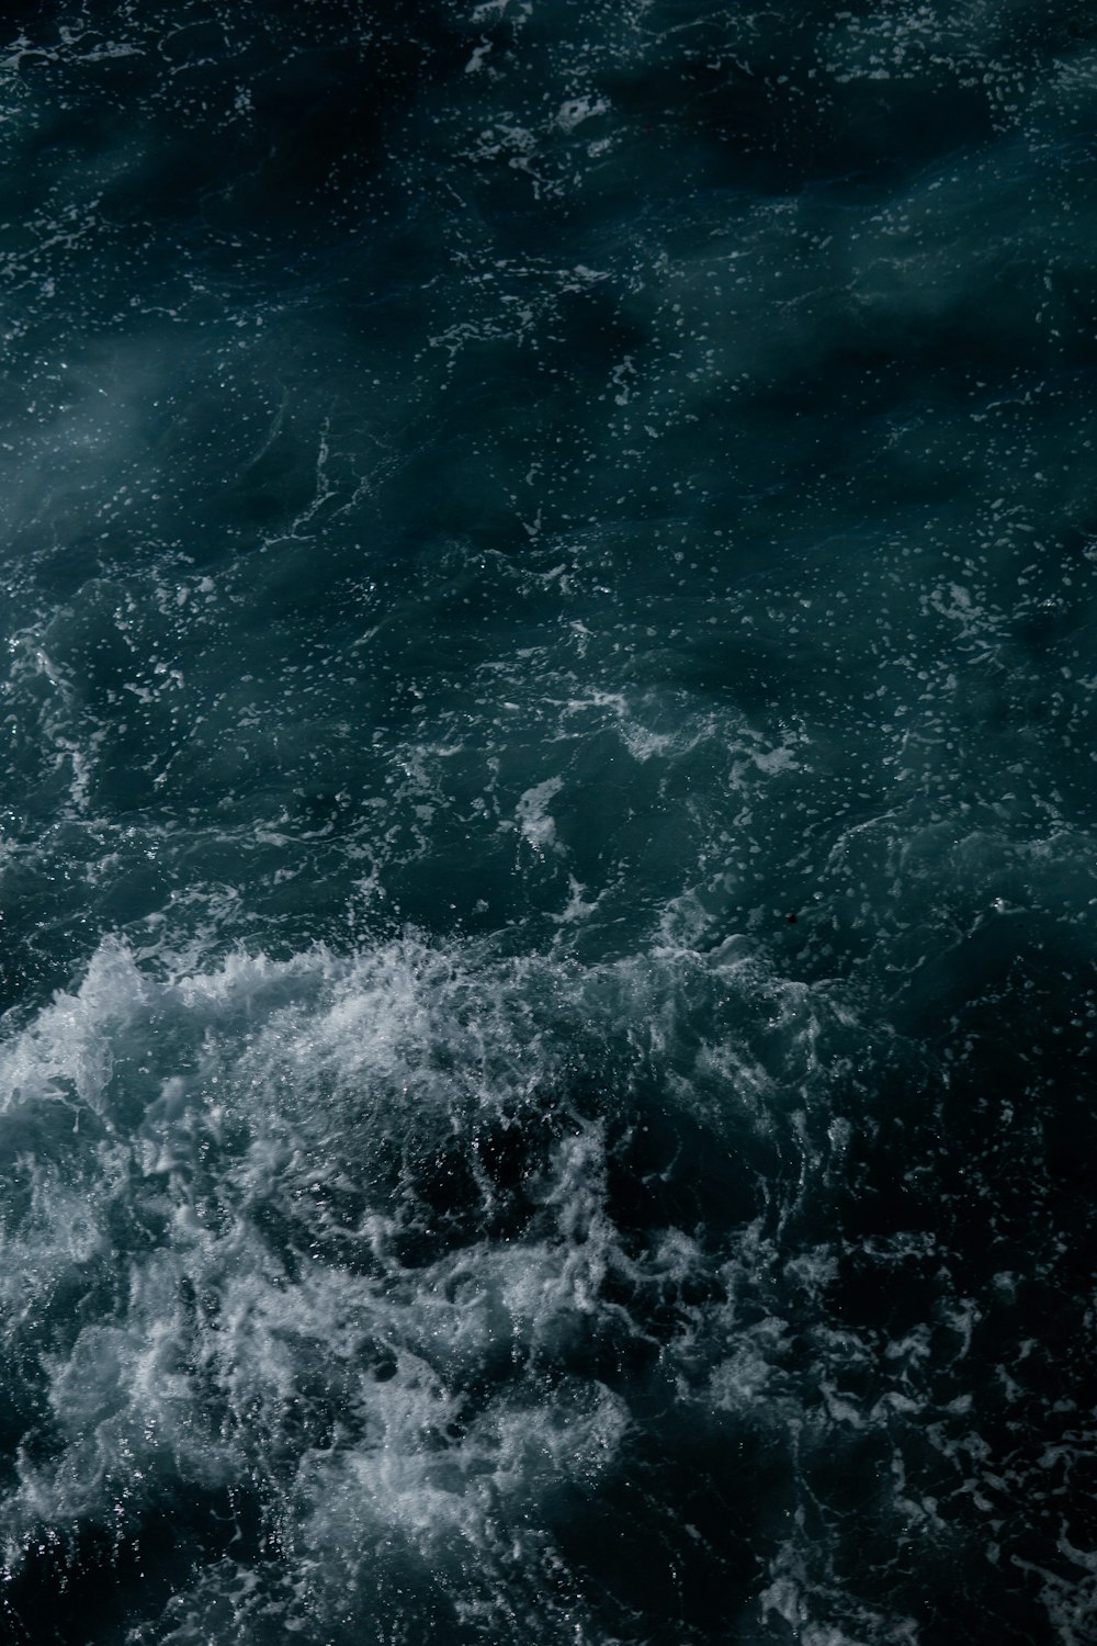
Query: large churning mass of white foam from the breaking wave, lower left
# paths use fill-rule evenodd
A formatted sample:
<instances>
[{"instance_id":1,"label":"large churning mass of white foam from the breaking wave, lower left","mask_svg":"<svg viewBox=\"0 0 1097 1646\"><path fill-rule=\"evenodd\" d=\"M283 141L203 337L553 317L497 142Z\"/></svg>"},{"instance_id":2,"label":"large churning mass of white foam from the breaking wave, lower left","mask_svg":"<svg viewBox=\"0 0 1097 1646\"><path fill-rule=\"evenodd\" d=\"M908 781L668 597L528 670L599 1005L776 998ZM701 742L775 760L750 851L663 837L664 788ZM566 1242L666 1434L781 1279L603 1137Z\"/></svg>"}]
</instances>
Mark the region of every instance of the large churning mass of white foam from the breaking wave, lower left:
<instances>
[{"instance_id":1,"label":"large churning mass of white foam from the breaking wave, lower left","mask_svg":"<svg viewBox=\"0 0 1097 1646\"><path fill-rule=\"evenodd\" d=\"M7 1121L51 1137L10 1216L8 1350L49 1447L5 1491L8 1569L43 1527L125 1542L199 1491L250 1500L311 1574L308 1605L278 1600L301 1626L378 1562L447 1574L454 1616L497 1616L520 1572L549 1582L553 1504L620 1467L623 1371L658 1358L651 1310L707 1266L673 1223L625 1236L622 1100L651 1058L697 1057L681 1014L729 981L699 958L584 971L411 935L183 971L105 943L3 1052ZM217 1616L232 1551L212 1529L201 1547L196 1616Z\"/></svg>"}]
</instances>

